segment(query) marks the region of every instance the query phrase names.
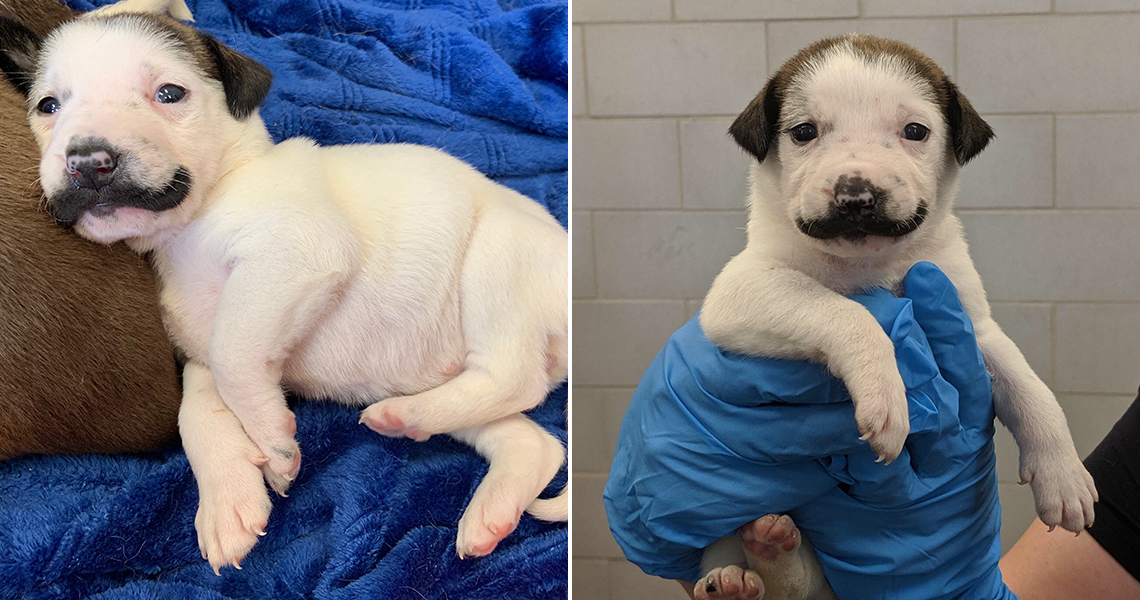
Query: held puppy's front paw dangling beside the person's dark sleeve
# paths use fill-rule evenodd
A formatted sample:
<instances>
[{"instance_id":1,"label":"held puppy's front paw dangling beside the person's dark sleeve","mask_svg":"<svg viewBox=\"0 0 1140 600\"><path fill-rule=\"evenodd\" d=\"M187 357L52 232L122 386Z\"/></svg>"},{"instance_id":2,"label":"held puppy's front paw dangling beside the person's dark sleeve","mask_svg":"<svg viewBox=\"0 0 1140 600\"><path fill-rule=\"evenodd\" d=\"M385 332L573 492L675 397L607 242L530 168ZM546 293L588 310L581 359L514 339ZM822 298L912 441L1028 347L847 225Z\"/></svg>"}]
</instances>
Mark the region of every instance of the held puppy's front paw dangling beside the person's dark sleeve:
<instances>
[{"instance_id":1,"label":"held puppy's front paw dangling beside the person's dark sleeve","mask_svg":"<svg viewBox=\"0 0 1140 600\"><path fill-rule=\"evenodd\" d=\"M1060 526L1080 534L1092 526L1093 503L1100 496L1075 449L1025 453L1020 476L1020 483L1033 488L1037 516L1050 532Z\"/></svg>"}]
</instances>

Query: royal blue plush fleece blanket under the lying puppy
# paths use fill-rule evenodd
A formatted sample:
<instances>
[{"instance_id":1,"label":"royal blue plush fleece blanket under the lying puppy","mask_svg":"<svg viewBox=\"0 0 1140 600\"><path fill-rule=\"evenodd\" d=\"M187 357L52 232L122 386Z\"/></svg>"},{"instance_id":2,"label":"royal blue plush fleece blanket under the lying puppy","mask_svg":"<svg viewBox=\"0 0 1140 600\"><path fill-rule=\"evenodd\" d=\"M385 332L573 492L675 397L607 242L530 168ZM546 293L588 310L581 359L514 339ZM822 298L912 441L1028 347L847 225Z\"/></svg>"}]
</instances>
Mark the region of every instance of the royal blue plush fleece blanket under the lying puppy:
<instances>
[{"instance_id":1,"label":"royal blue plush fleece blanket under the lying puppy","mask_svg":"<svg viewBox=\"0 0 1140 600\"><path fill-rule=\"evenodd\" d=\"M89 10L108 0L72 0ZM567 217L568 10L555 0L189 0L197 26L261 60L278 139L426 144ZM563 441L565 388L532 417ZM194 533L186 456L0 463L0 598L554 599L567 528L524 516L489 557L459 560L456 524L487 470L467 447L416 444L301 402L304 464L243 570L215 576ZM547 494L565 485L565 472Z\"/></svg>"}]
</instances>

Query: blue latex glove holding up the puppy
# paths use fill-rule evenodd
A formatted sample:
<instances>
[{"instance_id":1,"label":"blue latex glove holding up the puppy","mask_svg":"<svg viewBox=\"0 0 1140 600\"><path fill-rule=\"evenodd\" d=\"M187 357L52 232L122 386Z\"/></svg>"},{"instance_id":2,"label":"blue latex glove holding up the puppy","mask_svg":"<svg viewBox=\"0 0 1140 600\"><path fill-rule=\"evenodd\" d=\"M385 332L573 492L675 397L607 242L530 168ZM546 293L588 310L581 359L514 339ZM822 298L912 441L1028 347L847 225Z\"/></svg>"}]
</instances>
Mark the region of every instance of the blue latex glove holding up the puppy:
<instances>
[{"instance_id":1,"label":"blue latex glove holding up the puppy","mask_svg":"<svg viewBox=\"0 0 1140 600\"><path fill-rule=\"evenodd\" d=\"M990 376L950 279L929 262L853 297L895 343L911 433L889 465L858 440L823 365L716 348L694 317L634 392L605 487L618 544L694 582L702 550L789 513L840 598L1013 599L1001 583Z\"/></svg>"}]
</instances>

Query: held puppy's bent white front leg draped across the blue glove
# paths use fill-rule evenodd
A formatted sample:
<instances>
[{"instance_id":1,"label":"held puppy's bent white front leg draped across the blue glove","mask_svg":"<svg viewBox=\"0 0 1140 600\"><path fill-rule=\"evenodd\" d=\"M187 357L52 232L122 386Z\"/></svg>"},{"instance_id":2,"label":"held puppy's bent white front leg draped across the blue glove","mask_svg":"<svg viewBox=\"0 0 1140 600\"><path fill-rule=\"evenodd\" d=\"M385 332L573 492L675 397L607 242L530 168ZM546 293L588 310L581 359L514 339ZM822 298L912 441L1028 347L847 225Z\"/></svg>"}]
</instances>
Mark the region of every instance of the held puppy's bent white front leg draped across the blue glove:
<instances>
[{"instance_id":1,"label":"held puppy's bent white front leg draped across the blue glove","mask_svg":"<svg viewBox=\"0 0 1140 600\"><path fill-rule=\"evenodd\" d=\"M910 421L895 347L858 303L746 250L712 283L701 327L738 352L825 362L847 384L863 439L880 460L902 452Z\"/></svg>"}]
</instances>

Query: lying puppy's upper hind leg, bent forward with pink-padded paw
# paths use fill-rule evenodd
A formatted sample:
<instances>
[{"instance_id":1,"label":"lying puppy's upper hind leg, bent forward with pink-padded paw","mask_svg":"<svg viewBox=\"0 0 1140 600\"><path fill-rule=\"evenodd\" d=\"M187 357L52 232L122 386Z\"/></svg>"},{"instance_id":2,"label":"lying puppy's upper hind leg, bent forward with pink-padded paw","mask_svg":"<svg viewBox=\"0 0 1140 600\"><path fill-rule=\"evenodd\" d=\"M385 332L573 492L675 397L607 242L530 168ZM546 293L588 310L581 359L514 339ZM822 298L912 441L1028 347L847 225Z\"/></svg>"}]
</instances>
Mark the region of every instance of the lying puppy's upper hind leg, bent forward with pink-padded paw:
<instances>
[{"instance_id":1,"label":"lying puppy's upper hind leg, bent forward with pink-padded paw","mask_svg":"<svg viewBox=\"0 0 1140 600\"><path fill-rule=\"evenodd\" d=\"M530 410L562 381L565 237L528 219L504 209L479 219L459 287L463 372L422 394L381 400L361 422L382 435L426 439Z\"/></svg>"}]
</instances>

